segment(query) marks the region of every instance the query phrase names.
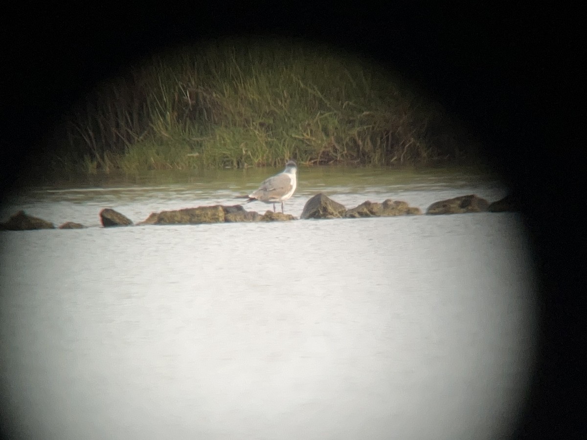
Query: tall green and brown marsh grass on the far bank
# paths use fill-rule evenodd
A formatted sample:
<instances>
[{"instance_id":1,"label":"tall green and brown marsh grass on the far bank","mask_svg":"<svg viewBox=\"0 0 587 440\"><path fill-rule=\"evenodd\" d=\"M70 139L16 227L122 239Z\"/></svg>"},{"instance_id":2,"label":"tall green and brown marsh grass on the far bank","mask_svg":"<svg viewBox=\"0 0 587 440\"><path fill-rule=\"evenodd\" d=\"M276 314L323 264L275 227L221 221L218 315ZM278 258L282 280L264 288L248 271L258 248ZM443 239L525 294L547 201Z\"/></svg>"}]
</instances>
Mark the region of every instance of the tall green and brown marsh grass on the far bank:
<instances>
[{"instance_id":1,"label":"tall green and brown marsh grass on the far bank","mask_svg":"<svg viewBox=\"0 0 587 440\"><path fill-rule=\"evenodd\" d=\"M99 170L454 160L456 121L389 72L332 50L210 43L156 55L66 115L43 164Z\"/></svg>"}]
</instances>

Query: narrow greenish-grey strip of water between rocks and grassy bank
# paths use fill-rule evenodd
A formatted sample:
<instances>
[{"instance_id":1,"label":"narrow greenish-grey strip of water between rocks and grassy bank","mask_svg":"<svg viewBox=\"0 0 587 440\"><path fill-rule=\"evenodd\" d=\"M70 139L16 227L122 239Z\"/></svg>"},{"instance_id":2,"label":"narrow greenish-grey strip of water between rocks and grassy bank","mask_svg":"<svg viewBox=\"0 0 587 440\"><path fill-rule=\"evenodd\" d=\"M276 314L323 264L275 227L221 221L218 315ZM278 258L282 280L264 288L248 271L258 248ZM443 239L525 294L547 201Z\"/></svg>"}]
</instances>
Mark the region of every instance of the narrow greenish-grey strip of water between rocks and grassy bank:
<instances>
[{"instance_id":1,"label":"narrow greenish-grey strip of water between rocks and grassy bank","mask_svg":"<svg viewBox=\"0 0 587 440\"><path fill-rule=\"evenodd\" d=\"M215 170L206 172L158 172L139 176L92 177L60 185L25 188L12 195L0 209L6 221L19 209L53 222L66 221L100 226L99 212L110 207L134 222L151 212L200 205L234 205L235 198L257 189L274 168ZM507 188L490 175L461 170L401 170L345 167L301 168L294 197L285 202L285 212L298 217L312 195L325 192L348 208L365 200L383 202L393 198L407 201L422 211L435 201L475 193L494 201L507 194ZM251 202L246 209L265 212L272 204ZM277 207L280 209L280 207Z\"/></svg>"}]
</instances>

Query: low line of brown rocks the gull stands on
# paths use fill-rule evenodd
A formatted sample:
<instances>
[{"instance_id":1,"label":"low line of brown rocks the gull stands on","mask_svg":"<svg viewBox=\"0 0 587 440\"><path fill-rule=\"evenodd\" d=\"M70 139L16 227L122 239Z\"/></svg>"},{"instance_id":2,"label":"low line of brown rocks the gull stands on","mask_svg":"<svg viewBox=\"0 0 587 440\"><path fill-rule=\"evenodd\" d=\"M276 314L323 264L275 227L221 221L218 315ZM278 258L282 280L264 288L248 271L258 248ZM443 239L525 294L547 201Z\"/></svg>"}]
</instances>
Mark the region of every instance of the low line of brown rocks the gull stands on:
<instances>
[{"instance_id":1,"label":"low line of brown rocks the gull stands on","mask_svg":"<svg viewBox=\"0 0 587 440\"><path fill-rule=\"evenodd\" d=\"M426 209L426 215L465 214L468 212L515 212L519 211L519 200L508 195L491 204L477 195L463 195L451 199L434 202ZM422 215L420 208L410 207L407 202L387 199L382 203L365 201L355 208L345 206L319 193L310 198L303 207L300 219L331 219L331 218L365 218L398 215ZM131 226L133 221L114 211L104 208L100 211L100 221L104 228L113 226ZM213 205L196 208L178 209L175 211L152 212L146 219L136 225L198 225L211 223L234 222L273 222L291 221L296 218L291 214L266 211L259 214L245 211L242 205ZM86 226L75 222L65 222L59 229L80 229ZM55 229L55 225L18 211L5 222L0 223L0 230L27 231L31 229Z\"/></svg>"}]
</instances>

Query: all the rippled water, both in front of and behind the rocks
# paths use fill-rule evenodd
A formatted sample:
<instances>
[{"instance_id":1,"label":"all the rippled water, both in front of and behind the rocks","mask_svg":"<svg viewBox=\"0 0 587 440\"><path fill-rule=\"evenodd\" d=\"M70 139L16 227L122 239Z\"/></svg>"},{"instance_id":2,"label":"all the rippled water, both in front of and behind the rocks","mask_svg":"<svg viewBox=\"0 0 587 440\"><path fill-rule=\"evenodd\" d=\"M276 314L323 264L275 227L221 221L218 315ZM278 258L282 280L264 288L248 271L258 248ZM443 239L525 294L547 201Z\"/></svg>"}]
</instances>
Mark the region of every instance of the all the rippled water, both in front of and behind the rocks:
<instances>
[{"instance_id":1,"label":"all the rippled water, both in front of and behind the rocks","mask_svg":"<svg viewBox=\"0 0 587 440\"><path fill-rule=\"evenodd\" d=\"M232 204L251 174L32 188L2 220L24 208L97 226L110 206L140 221ZM430 172L302 169L299 185L286 202L296 216L319 191L423 210L507 192ZM15 435L496 438L524 403L535 280L516 214L2 232L0 243L3 422Z\"/></svg>"}]
</instances>

